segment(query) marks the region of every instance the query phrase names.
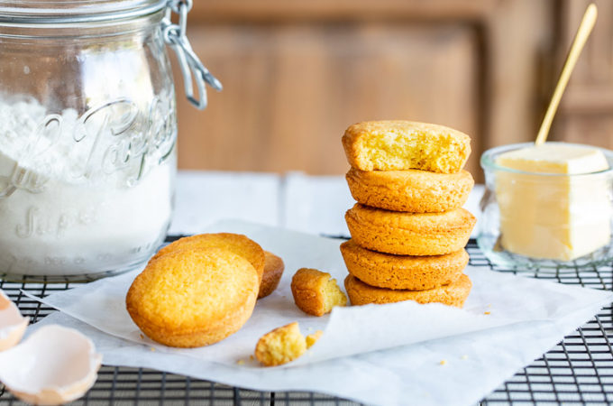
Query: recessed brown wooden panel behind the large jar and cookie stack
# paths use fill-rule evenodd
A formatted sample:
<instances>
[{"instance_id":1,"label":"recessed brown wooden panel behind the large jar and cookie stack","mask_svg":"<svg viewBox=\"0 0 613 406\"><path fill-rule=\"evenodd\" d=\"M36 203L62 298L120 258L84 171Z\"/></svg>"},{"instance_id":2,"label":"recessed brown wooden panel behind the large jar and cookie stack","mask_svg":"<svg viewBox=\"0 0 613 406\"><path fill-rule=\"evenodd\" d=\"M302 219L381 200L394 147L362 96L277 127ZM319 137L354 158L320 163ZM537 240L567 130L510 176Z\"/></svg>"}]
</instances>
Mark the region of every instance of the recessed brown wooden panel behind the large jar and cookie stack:
<instances>
[{"instance_id":1,"label":"recessed brown wooden panel behind the large jar and cookie stack","mask_svg":"<svg viewBox=\"0 0 613 406\"><path fill-rule=\"evenodd\" d=\"M470 24L221 23L189 37L224 91L205 112L178 93L179 165L232 171L346 171L354 122L450 125L480 154L478 38Z\"/></svg>"}]
</instances>

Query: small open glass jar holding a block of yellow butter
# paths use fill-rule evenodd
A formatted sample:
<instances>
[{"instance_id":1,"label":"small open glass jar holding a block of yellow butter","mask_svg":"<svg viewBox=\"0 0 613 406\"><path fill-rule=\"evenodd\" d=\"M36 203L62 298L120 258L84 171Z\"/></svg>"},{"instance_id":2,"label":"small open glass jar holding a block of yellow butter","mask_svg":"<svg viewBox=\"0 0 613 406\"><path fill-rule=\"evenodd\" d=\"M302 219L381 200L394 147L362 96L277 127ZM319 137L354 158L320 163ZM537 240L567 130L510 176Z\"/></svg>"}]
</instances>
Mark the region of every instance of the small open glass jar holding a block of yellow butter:
<instances>
[{"instance_id":1,"label":"small open glass jar holding a block of yellow butter","mask_svg":"<svg viewBox=\"0 0 613 406\"><path fill-rule=\"evenodd\" d=\"M532 145L505 145L481 156L486 185L480 249L493 263L517 270L593 271L595 265L610 263L613 152L590 147L604 154L609 169L582 174L517 171L497 164L499 155Z\"/></svg>"}]
</instances>

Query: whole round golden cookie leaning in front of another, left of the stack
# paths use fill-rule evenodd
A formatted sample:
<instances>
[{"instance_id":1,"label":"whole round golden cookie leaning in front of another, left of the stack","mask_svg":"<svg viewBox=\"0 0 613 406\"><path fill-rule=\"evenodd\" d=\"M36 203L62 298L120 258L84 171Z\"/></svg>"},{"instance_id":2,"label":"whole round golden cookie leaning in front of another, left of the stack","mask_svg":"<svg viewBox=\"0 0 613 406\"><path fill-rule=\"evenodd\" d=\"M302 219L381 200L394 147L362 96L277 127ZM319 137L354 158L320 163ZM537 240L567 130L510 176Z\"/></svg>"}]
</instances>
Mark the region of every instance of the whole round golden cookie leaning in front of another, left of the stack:
<instances>
[{"instance_id":1,"label":"whole round golden cookie leaning in front of another, left of the stack","mask_svg":"<svg viewBox=\"0 0 613 406\"><path fill-rule=\"evenodd\" d=\"M251 317L258 272L220 248L173 251L147 264L125 298L134 323L166 346L208 346Z\"/></svg>"}]
</instances>

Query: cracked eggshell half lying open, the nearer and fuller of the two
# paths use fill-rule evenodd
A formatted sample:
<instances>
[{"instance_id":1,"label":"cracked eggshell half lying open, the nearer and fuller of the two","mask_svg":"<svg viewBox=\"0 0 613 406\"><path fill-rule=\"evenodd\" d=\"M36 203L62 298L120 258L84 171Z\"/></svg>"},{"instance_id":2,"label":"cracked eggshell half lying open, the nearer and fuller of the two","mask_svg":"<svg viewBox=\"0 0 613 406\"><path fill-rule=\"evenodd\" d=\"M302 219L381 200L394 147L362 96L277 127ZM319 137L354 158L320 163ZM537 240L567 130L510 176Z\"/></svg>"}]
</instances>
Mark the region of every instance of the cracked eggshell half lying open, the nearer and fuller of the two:
<instances>
[{"instance_id":1,"label":"cracked eggshell half lying open, the nearer and fuller of the two","mask_svg":"<svg viewBox=\"0 0 613 406\"><path fill-rule=\"evenodd\" d=\"M72 328L39 328L0 353L0 381L22 401L55 405L74 401L96 382L102 355Z\"/></svg>"}]
</instances>

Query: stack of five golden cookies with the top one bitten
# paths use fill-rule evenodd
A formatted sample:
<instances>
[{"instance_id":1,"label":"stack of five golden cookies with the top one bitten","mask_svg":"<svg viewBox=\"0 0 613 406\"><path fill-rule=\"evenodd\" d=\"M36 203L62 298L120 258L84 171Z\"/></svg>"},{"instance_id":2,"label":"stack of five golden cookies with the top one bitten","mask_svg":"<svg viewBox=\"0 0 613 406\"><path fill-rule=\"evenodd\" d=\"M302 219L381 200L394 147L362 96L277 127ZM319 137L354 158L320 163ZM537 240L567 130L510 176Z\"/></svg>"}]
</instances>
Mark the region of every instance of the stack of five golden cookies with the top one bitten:
<instances>
[{"instance_id":1,"label":"stack of five golden cookies with the top one bitten","mask_svg":"<svg viewBox=\"0 0 613 406\"><path fill-rule=\"evenodd\" d=\"M474 181L462 167L468 135L407 121L350 126L346 179L358 203L341 245L353 305L416 300L462 307L471 291L464 246L475 217L462 208Z\"/></svg>"}]
</instances>

